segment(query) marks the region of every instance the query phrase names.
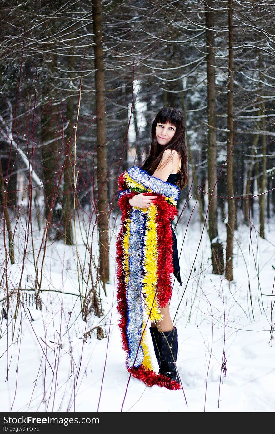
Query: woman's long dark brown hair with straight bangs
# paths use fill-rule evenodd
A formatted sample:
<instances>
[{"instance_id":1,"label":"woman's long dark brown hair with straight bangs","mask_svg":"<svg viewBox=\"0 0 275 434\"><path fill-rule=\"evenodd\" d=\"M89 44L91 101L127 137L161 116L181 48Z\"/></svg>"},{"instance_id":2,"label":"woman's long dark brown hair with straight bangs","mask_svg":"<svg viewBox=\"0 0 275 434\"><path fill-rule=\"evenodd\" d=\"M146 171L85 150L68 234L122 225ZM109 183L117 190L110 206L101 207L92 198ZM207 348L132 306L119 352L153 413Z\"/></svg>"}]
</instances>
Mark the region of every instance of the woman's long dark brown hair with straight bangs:
<instances>
[{"instance_id":1,"label":"woman's long dark brown hair with straight bangs","mask_svg":"<svg viewBox=\"0 0 275 434\"><path fill-rule=\"evenodd\" d=\"M159 145L157 139L156 139L156 126L157 124L166 124L169 123L170 125L173 125L176 127L176 132L172 139L169 141L168 145L163 148L163 146ZM179 171L179 180L177 181L177 185L180 188L183 188L188 183L188 177L187 177L187 158L188 153L186 149L185 144L185 123L182 116L182 113L177 109L172 109L172 107L164 107L159 111L159 113L156 115L156 118L154 119L152 123L151 128L151 146L149 155L142 164L142 169L149 172L150 175L154 173L156 168L158 167L163 152L166 151L166 149L172 149L179 153L179 157L181 160L181 166ZM172 157L172 153L171 153Z\"/></svg>"}]
</instances>

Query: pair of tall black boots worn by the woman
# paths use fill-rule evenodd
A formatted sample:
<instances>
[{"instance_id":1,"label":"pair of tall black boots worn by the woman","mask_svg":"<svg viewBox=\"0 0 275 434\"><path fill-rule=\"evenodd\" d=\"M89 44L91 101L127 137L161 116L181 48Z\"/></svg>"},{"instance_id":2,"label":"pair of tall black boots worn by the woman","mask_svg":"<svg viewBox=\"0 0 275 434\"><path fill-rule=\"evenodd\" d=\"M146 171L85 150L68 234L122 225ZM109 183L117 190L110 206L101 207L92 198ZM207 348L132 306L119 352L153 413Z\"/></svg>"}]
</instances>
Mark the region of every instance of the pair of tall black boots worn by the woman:
<instances>
[{"instance_id":1,"label":"pair of tall black boots worn by the woman","mask_svg":"<svg viewBox=\"0 0 275 434\"><path fill-rule=\"evenodd\" d=\"M159 374L166 375L179 383L176 370L178 357L178 332L176 327L170 332L159 332L156 327L150 327L156 359L159 364Z\"/></svg>"}]
</instances>

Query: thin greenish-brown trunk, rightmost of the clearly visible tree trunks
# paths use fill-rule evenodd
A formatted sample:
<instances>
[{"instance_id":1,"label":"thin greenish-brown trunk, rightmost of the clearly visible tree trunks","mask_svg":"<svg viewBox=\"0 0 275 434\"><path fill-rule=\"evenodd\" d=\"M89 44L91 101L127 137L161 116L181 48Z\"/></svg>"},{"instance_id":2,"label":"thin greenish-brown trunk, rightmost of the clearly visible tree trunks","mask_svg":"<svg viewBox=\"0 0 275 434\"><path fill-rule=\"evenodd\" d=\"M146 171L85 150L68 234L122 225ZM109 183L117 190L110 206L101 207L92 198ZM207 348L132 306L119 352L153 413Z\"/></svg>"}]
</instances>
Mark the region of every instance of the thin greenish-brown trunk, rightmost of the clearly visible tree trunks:
<instances>
[{"instance_id":1,"label":"thin greenish-brown trunk, rightmost of the clearly visible tree trunks","mask_svg":"<svg viewBox=\"0 0 275 434\"><path fill-rule=\"evenodd\" d=\"M259 55L259 71L260 82L262 82L262 54ZM262 89L262 103L261 103L261 115L262 115L262 131L261 143L262 143L262 174L260 178L260 193L259 205L260 205L260 237L265 238L265 191L266 191L266 136L265 136L265 100L264 89Z\"/></svg>"}]
</instances>

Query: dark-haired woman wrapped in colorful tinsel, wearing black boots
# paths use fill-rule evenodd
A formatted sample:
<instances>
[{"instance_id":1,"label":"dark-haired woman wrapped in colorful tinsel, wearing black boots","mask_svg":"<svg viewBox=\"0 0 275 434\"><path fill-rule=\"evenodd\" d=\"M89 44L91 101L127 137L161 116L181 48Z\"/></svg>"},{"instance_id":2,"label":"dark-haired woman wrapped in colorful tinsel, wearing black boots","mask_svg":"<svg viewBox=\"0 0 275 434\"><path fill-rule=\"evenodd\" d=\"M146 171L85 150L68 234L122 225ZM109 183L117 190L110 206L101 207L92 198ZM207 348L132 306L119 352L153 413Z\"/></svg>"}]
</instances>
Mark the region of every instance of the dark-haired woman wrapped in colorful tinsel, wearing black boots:
<instances>
[{"instance_id":1,"label":"dark-haired woman wrapped in colorful tinsel, wearing black boots","mask_svg":"<svg viewBox=\"0 0 275 434\"><path fill-rule=\"evenodd\" d=\"M177 329L169 302L171 273L181 283L176 236L180 188L187 184L184 119L179 110L164 108L152 123L149 156L142 168L133 166L119 177L123 211L116 243L117 301L123 348L129 372L147 385L179 389L176 370ZM152 370L146 345L146 316L159 364Z\"/></svg>"}]
</instances>

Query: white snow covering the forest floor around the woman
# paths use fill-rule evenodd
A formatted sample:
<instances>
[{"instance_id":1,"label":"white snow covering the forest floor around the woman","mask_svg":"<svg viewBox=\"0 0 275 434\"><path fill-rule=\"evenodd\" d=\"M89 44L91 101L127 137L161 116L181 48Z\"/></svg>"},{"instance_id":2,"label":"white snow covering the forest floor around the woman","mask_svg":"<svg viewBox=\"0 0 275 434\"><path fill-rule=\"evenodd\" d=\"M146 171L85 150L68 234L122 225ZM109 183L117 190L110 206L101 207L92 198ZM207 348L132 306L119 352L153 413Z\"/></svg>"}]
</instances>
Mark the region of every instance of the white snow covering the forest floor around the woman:
<instances>
[{"instance_id":1,"label":"white snow covering the forest floor around the woman","mask_svg":"<svg viewBox=\"0 0 275 434\"><path fill-rule=\"evenodd\" d=\"M274 328L274 224L266 224L266 239L259 237L256 224L252 230L240 225L235 231L234 281L229 283L224 276L212 274L210 241L206 229L200 240L203 225L195 213L185 234L191 212L192 208L186 208L176 227L179 252L184 239L180 255L183 286L173 280L170 304L179 335L180 391L146 387L126 371L116 311L114 257L119 217L110 219L114 227L107 296L100 289L103 316L90 313L87 322L82 320L77 294L79 285L85 293L85 281L81 274L78 278L76 247L50 241L42 270L42 309L36 310L29 290L36 274L30 243L23 270L23 303L17 319L12 318L23 268L26 226L21 218L15 237L17 263L9 264L7 270L11 308L0 325L2 412L274 411L275 345L270 332ZM39 230L35 228L33 235L37 258ZM225 246L222 222L219 240ZM3 228L0 242L3 274ZM80 270L87 265L80 228L77 248ZM42 263L39 258L39 276ZM1 300L5 282L3 279ZM7 311L6 303L3 306ZM83 339L95 326L101 326L106 337L96 339L95 329ZM149 345L157 370L152 342Z\"/></svg>"}]
</instances>

